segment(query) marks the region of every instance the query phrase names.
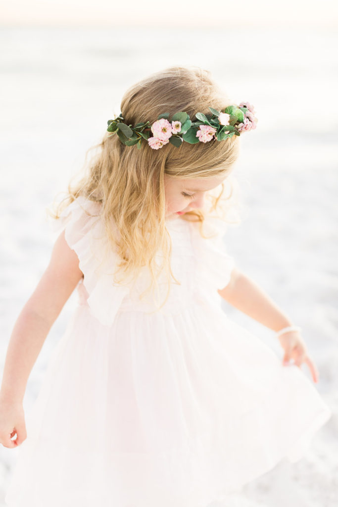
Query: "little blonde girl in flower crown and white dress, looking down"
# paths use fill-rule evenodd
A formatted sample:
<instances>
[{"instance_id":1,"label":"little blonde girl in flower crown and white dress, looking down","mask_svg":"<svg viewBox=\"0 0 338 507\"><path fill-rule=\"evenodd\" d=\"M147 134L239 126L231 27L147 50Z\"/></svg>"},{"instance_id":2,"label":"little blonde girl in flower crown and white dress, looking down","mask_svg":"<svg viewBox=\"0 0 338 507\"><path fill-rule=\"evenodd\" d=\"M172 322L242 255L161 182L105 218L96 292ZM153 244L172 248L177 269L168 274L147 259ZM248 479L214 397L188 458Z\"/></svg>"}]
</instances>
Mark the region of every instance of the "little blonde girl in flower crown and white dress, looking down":
<instances>
[{"instance_id":1,"label":"little blonde girl in flower crown and white dress, looking down","mask_svg":"<svg viewBox=\"0 0 338 507\"><path fill-rule=\"evenodd\" d=\"M0 442L21 446L10 507L205 507L301 459L329 419L300 329L222 242L224 182L254 115L208 71L172 67L108 120L8 346ZM74 288L25 419L29 373ZM283 360L221 298L274 331Z\"/></svg>"}]
</instances>

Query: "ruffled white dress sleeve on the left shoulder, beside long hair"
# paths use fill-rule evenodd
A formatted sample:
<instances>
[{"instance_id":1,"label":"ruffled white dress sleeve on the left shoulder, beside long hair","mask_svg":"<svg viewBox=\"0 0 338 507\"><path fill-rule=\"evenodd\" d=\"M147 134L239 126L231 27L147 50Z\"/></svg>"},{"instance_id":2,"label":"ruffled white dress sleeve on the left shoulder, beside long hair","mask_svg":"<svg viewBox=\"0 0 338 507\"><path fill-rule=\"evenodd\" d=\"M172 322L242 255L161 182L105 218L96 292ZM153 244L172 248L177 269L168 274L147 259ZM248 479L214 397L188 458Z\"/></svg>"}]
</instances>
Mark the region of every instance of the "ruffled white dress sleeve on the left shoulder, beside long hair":
<instances>
[{"instance_id":1,"label":"ruffled white dress sleeve on the left shoulder, beside long hair","mask_svg":"<svg viewBox=\"0 0 338 507\"><path fill-rule=\"evenodd\" d=\"M104 257L108 240L99 211L99 203L79 196L61 212L51 227L54 234L65 231L68 245L79 258L91 313L102 324L111 325L129 287L118 285L114 280L113 273L119 260L117 253L108 249L109 253Z\"/></svg>"}]
</instances>

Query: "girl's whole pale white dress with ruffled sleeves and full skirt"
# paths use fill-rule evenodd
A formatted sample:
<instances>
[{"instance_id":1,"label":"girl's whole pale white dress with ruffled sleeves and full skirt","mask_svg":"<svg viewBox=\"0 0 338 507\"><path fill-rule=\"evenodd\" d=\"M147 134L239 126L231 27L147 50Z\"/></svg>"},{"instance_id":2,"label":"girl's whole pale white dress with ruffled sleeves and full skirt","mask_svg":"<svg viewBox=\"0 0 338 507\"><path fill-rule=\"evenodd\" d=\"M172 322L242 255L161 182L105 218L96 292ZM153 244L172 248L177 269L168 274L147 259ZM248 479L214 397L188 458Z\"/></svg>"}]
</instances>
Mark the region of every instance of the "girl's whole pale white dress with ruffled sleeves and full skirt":
<instances>
[{"instance_id":1,"label":"girl's whole pale white dress with ruffled sleeves and full skirt","mask_svg":"<svg viewBox=\"0 0 338 507\"><path fill-rule=\"evenodd\" d=\"M25 415L9 507L205 507L301 459L331 411L297 366L231 321L217 288L234 266L217 219L167 221L172 284L162 310L113 284L97 203L57 228L80 260L79 304ZM214 221L214 222L213 222ZM61 227L60 227L61 225ZM161 280L160 280L161 286ZM167 285L162 284L162 288ZM282 350L281 350L282 352Z\"/></svg>"}]
</instances>

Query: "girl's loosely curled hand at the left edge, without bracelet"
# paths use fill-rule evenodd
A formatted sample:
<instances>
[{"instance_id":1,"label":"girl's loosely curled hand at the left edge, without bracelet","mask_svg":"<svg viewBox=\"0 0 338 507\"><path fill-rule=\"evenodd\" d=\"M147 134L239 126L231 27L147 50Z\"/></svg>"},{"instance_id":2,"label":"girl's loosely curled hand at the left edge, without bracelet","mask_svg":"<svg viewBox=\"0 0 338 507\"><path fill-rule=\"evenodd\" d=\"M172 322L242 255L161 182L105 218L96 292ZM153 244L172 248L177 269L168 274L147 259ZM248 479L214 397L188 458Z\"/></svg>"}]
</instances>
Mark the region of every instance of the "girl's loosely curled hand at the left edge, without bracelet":
<instances>
[{"instance_id":1,"label":"girl's loosely curled hand at the left edge, without bracelet","mask_svg":"<svg viewBox=\"0 0 338 507\"><path fill-rule=\"evenodd\" d=\"M17 437L11 440L15 433ZM26 440L27 432L22 403L3 399L0 395L0 444L13 448Z\"/></svg>"}]
</instances>

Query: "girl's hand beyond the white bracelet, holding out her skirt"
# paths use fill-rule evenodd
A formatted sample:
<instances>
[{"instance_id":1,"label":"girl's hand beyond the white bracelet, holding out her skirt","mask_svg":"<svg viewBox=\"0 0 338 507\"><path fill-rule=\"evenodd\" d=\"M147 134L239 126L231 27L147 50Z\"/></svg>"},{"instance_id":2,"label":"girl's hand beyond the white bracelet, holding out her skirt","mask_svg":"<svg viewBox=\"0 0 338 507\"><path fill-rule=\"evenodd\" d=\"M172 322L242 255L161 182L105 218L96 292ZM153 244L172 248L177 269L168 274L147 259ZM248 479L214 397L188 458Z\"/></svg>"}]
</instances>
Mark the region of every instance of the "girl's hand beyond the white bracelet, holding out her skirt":
<instances>
[{"instance_id":1,"label":"girl's hand beyond the white bracelet, holding out her skirt","mask_svg":"<svg viewBox=\"0 0 338 507\"><path fill-rule=\"evenodd\" d=\"M294 364L301 368L302 363L309 367L313 381L318 382L318 370L314 361L309 356L306 344L298 331L288 331L278 337L281 346L284 349L283 366L287 366L290 359L294 359Z\"/></svg>"}]
</instances>

